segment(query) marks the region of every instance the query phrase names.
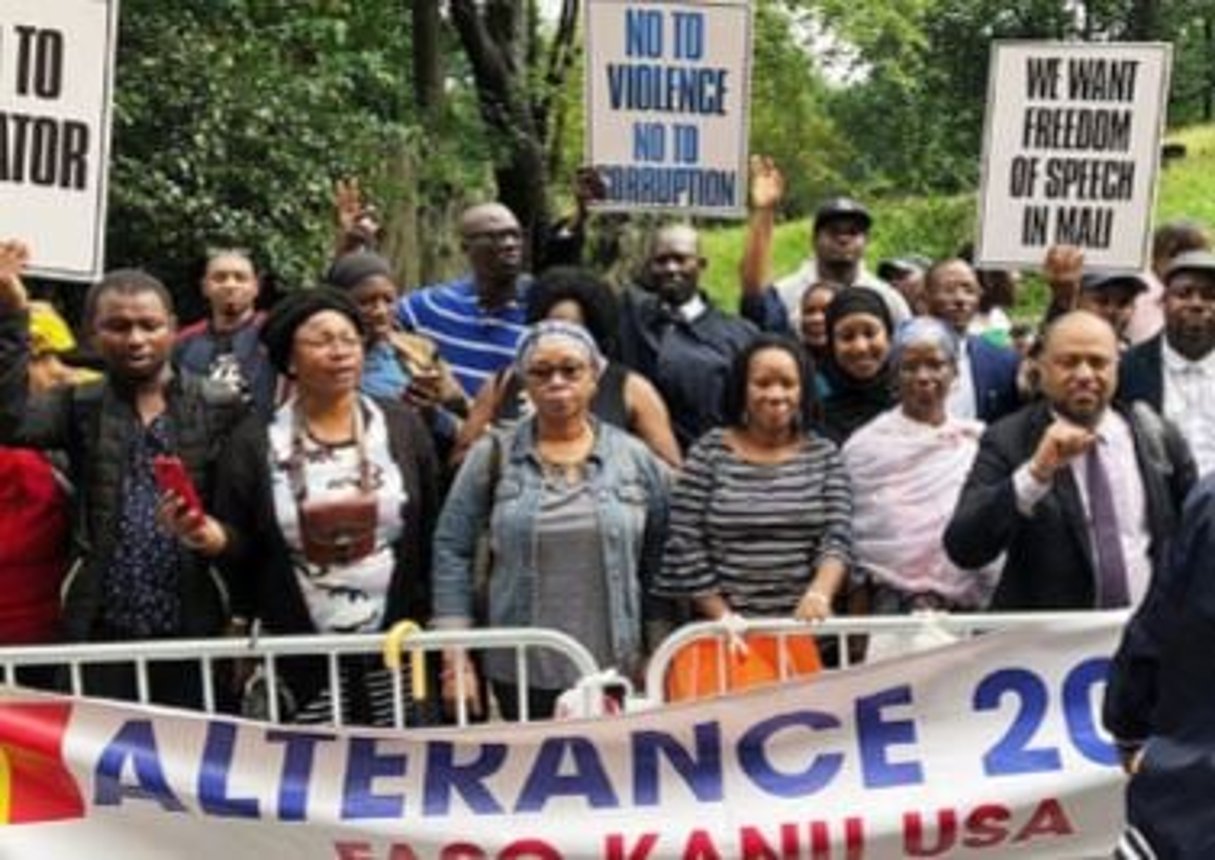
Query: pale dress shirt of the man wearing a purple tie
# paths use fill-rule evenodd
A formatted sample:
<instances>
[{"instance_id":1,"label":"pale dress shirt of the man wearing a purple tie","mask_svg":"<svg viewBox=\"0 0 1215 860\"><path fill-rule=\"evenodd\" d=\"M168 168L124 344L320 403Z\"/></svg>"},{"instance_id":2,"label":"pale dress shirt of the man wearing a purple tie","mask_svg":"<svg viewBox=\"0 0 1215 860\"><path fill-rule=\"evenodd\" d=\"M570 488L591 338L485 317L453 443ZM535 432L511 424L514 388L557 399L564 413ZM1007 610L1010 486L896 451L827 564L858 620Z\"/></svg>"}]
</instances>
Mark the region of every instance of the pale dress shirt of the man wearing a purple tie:
<instances>
[{"instance_id":1,"label":"pale dress shirt of the man wearing a purple tie","mask_svg":"<svg viewBox=\"0 0 1215 860\"><path fill-rule=\"evenodd\" d=\"M1143 476L1140 475L1138 458L1135 456L1135 437L1130 425L1113 409L1097 423L1097 445L1101 463L1109 476L1109 490L1114 497L1114 510L1118 514L1118 533L1123 544L1123 558L1126 561L1126 593L1131 606L1138 606L1147 594L1152 578L1152 559L1148 547L1152 534L1147 527L1147 502L1143 493ZM1089 547L1092 558L1097 558L1097 542L1089 513L1087 463L1081 454L1068 465L1076 487L1080 490L1080 504L1087 520ZM1023 516L1033 516L1034 508L1051 491L1050 481L1041 482L1029 471L1024 463L1012 475L1013 490L1017 494L1017 509Z\"/></svg>"}]
</instances>

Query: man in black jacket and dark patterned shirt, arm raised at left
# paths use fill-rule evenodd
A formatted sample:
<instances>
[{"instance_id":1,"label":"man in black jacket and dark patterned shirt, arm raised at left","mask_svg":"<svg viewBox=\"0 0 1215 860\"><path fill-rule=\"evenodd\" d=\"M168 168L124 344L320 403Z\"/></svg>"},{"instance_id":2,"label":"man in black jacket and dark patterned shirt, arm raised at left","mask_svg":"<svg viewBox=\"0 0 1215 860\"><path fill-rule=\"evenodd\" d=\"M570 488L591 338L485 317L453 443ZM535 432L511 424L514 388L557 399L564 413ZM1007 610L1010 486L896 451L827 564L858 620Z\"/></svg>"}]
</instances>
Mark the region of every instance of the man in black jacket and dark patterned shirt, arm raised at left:
<instances>
[{"instance_id":1,"label":"man in black jacket and dark patterned shirt, arm raised at left","mask_svg":"<svg viewBox=\"0 0 1215 860\"><path fill-rule=\"evenodd\" d=\"M129 641L221 632L228 617L224 589L207 560L158 521L165 499L152 462L158 454L180 457L205 503L225 437L244 414L239 395L174 374L168 290L145 272L119 270L85 298L85 326L106 363L104 379L29 396L19 278L27 256L21 243L0 243L0 442L68 458L78 556L64 584L68 638ZM154 697L197 701L197 674L191 680L180 668L159 668ZM134 694L125 669L90 673L90 680L89 692Z\"/></svg>"}]
</instances>

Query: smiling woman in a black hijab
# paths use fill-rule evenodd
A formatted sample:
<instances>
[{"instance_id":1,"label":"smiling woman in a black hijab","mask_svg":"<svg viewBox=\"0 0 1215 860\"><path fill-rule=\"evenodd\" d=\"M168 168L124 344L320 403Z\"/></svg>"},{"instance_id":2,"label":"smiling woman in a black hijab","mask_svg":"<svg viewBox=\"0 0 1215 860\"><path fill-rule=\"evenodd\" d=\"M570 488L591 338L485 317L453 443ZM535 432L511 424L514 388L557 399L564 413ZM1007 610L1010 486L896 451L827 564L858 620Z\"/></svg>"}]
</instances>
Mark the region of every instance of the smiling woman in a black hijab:
<instances>
[{"instance_id":1,"label":"smiling woman in a black hijab","mask_svg":"<svg viewBox=\"0 0 1215 860\"><path fill-rule=\"evenodd\" d=\"M818 377L823 424L843 443L894 403L891 372L893 324L874 290L849 287L827 305L827 358Z\"/></svg>"}]
</instances>

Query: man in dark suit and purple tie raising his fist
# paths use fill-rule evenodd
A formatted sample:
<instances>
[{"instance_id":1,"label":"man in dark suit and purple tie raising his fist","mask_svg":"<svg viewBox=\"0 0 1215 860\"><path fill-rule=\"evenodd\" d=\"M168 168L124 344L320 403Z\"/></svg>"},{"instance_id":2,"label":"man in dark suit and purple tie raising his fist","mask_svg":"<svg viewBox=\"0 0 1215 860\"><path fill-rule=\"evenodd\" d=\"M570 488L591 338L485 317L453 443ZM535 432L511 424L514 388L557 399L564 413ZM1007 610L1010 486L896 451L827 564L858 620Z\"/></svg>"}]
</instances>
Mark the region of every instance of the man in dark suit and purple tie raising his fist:
<instances>
[{"instance_id":1,"label":"man in dark suit and purple tie raising his fist","mask_svg":"<svg viewBox=\"0 0 1215 860\"><path fill-rule=\"evenodd\" d=\"M1057 318L1045 398L988 428L945 530L955 565L1006 553L993 609L1138 602L1194 481L1189 449L1151 409L1111 404L1118 343L1087 311Z\"/></svg>"}]
</instances>

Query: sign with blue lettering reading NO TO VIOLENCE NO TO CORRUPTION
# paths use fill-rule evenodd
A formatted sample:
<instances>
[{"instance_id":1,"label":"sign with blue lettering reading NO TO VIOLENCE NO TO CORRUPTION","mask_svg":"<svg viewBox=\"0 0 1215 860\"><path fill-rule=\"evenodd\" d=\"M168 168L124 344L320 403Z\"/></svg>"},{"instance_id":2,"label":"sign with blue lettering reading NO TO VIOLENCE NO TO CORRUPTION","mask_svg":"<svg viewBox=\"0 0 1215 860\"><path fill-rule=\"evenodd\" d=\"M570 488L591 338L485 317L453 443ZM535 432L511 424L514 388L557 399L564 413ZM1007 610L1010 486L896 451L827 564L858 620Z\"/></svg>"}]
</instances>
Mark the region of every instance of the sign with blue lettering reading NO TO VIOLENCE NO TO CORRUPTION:
<instances>
[{"instance_id":1,"label":"sign with blue lettering reading NO TO VIOLENCE NO TO CORRUPTION","mask_svg":"<svg viewBox=\"0 0 1215 860\"><path fill-rule=\"evenodd\" d=\"M747 0L587 2L587 163L609 211L741 217L747 193Z\"/></svg>"}]
</instances>

